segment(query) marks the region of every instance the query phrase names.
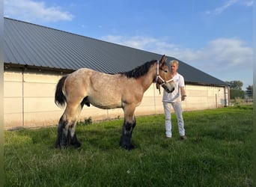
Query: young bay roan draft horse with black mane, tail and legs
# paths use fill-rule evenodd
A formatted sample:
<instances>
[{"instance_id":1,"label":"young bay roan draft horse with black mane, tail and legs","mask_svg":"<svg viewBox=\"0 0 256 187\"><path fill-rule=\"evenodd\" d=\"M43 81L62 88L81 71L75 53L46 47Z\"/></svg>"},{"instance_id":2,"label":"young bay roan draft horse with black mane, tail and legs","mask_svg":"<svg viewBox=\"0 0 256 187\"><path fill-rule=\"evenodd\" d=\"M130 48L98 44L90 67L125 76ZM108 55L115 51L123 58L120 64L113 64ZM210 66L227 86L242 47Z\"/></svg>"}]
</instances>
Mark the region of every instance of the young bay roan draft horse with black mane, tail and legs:
<instances>
[{"instance_id":1,"label":"young bay roan draft horse with black mane, tail and legs","mask_svg":"<svg viewBox=\"0 0 256 187\"><path fill-rule=\"evenodd\" d=\"M123 108L120 145L126 150L134 148L131 143L136 123L134 111L141 103L144 92L153 82L156 82L157 89L161 85L168 93L174 91L174 81L165 61L163 55L160 61L148 61L134 70L114 75L82 68L63 76L56 86L55 103L66 105L66 108L58 123L55 147L81 146L76 138L76 122L83 105L91 104L103 109Z\"/></svg>"}]
</instances>

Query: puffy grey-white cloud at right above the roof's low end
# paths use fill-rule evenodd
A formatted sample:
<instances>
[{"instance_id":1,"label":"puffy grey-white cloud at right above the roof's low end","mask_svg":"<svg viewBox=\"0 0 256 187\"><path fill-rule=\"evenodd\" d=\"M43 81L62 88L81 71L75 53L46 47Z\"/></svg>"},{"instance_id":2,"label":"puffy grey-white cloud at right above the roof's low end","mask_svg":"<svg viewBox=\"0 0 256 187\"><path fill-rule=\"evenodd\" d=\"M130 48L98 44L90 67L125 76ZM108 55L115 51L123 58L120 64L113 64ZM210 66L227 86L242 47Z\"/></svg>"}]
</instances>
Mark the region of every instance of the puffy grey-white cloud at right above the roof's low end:
<instances>
[{"instance_id":1,"label":"puffy grey-white cloud at right above the roof's low end","mask_svg":"<svg viewBox=\"0 0 256 187\"><path fill-rule=\"evenodd\" d=\"M211 40L201 49L177 49L177 58L192 62L203 70L252 69L252 47L237 38Z\"/></svg>"}]
</instances>

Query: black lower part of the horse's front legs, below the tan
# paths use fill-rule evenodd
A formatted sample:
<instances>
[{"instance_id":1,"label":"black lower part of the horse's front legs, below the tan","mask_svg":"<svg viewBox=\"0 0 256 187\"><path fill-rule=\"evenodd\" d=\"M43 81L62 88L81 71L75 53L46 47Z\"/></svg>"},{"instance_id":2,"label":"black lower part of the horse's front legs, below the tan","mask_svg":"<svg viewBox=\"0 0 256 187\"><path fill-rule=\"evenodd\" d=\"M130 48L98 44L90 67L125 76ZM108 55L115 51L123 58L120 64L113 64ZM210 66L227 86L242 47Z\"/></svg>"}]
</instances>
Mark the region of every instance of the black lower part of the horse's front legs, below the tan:
<instances>
[{"instance_id":1,"label":"black lower part of the horse's front legs, below the tan","mask_svg":"<svg viewBox=\"0 0 256 187\"><path fill-rule=\"evenodd\" d=\"M132 150L134 148L134 146L131 143L132 130L134 129L134 127L135 127L135 120L133 121L133 123L128 123L124 120L120 145L126 150Z\"/></svg>"}]
</instances>

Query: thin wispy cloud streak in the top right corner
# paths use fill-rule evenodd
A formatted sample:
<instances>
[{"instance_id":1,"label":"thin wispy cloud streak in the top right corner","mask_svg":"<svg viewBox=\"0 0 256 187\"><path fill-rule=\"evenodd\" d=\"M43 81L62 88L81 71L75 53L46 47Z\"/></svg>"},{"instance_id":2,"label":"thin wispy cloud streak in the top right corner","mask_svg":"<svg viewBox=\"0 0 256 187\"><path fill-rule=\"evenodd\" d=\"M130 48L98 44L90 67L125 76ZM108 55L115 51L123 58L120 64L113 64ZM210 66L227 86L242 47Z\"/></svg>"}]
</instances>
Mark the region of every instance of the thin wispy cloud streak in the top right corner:
<instances>
[{"instance_id":1,"label":"thin wispy cloud streak in the top right corner","mask_svg":"<svg viewBox=\"0 0 256 187\"><path fill-rule=\"evenodd\" d=\"M228 7L233 6L234 4L237 5L242 5L246 7L252 7L253 5L253 0L229 0L225 1L224 4L222 4L220 7L216 7L214 10L207 10L205 11L206 14L208 15L218 15L222 12L224 12Z\"/></svg>"}]
</instances>

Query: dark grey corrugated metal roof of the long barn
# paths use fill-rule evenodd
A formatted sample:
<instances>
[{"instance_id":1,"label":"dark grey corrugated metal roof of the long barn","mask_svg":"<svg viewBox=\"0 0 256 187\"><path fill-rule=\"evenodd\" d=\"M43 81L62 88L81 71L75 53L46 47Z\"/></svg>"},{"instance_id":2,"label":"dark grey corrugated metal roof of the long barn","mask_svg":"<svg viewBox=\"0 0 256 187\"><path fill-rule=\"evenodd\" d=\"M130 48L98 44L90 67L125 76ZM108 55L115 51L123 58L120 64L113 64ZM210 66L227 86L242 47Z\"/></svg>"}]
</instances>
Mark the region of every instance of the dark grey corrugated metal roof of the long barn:
<instances>
[{"instance_id":1,"label":"dark grey corrugated metal roof of the long barn","mask_svg":"<svg viewBox=\"0 0 256 187\"><path fill-rule=\"evenodd\" d=\"M162 55L83 37L41 25L4 18L4 63L61 70L81 67L105 73L132 70ZM174 58L168 57L168 61ZM180 60L179 60L180 61ZM179 73L186 82L227 85L180 61Z\"/></svg>"}]
</instances>

